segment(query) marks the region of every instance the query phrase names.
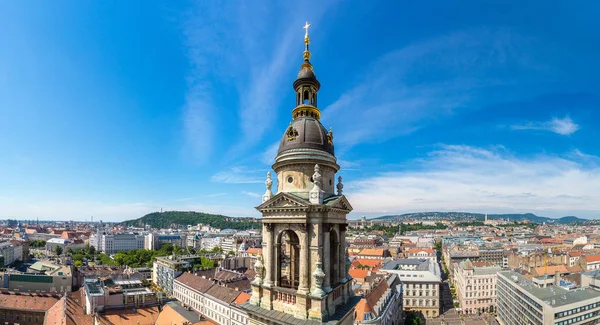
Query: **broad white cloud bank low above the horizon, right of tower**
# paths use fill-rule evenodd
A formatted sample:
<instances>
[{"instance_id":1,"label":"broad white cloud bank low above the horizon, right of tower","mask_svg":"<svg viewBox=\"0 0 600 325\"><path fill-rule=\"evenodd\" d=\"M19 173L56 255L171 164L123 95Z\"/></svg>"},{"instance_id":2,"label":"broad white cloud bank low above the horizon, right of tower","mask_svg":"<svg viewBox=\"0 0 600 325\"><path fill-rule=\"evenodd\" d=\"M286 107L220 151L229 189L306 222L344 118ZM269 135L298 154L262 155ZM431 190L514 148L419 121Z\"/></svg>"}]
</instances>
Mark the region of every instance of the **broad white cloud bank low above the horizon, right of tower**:
<instances>
[{"instance_id":1,"label":"broad white cloud bank low above the horizon, right of tower","mask_svg":"<svg viewBox=\"0 0 600 325\"><path fill-rule=\"evenodd\" d=\"M596 157L597 158L597 157ZM443 146L418 168L346 184L355 214L534 212L600 217L600 167L566 157L519 158L497 148Z\"/></svg>"}]
</instances>

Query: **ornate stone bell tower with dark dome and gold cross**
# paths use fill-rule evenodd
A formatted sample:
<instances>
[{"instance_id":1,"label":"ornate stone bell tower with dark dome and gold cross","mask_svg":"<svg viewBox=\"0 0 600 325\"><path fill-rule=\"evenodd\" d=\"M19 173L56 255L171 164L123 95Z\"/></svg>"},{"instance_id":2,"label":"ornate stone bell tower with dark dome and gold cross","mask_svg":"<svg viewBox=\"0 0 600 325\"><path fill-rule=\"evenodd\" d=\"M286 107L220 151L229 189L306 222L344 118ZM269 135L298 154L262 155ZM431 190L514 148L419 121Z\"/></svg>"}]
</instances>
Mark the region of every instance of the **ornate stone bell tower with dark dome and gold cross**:
<instances>
[{"instance_id":1,"label":"ornate stone bell tower with dark dome and gold cross","mask_svg":"<svg viewBox=\"0 0 600 325\"><path fill-rule=\"evenodd\" d=\"M321 87L310 62L306 23L304 62L293 88L296 106L275 157L277 192L267 173L262 213L263 255L256 262L252 298L243 305L250 324L352 324L352 281L347 272L346 215L333 132L321 124ZM336 192L337 189L337 192ZM300 324L300 323L298 323Z\"/></svg>"}]
</instances>

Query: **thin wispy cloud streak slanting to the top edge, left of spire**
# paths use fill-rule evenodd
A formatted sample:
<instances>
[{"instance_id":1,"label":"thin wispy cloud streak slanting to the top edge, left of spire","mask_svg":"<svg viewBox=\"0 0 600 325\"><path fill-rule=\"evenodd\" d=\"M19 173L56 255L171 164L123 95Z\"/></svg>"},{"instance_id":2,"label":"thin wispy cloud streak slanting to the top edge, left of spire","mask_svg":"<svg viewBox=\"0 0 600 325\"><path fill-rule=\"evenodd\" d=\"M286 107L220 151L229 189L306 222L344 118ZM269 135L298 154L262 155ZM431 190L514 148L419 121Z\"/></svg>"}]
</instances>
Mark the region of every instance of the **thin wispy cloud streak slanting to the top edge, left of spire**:
<instances>
[{"instance_id":1,"label":"thin wispy cloud streak slanting to the top edge, left of spire","mask_svg":"<svg viewBox=\"0 0 600 325\"><path fill-rule=\"evenodd\" d=\"M255 6L256 4L252 4L252 7ZM285 7L285 10L277 13L281 18L277 22L285 24L286 28L267 25L267 20L262 16L248 15L247 10L251 8L243 11L240 30L244 35L242 38L258 41L263 47L258 47L256 42L244 42L245 46L241 49L251 62L247 67L250 75L248 82L241 88L243 100L238 110L243 137L230 150L230 155L237 156L255 145L265 130L271 128L276 120L281 98L286 94L286 89L289 89L289 84L283 82L283 77L289 76L293 69L298 69L302 62L302 23L309 18L314 25L318 25L318 20L328 5L289 3ZM273 13L273 8L265 5L260 11L268 15Z\"/></svg>"}]
</instances>

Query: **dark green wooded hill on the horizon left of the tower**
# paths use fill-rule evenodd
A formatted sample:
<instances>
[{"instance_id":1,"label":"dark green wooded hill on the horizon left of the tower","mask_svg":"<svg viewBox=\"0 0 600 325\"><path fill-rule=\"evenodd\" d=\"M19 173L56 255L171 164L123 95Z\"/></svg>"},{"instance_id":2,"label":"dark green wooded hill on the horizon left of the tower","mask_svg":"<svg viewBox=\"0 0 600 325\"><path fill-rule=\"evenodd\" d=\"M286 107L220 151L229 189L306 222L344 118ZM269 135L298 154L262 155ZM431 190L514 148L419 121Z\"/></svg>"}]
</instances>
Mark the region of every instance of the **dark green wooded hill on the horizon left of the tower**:
<instances>
[{"instance_id":1,"label":"dark green wooded hill on the horizon left of the tower","mask_svg":"<svg viewBox=\"0 0 600 325\"><path fill-rule=\"evenodd\" d=\"M145 227L151 228L171 228L172 225L177 226L195 226L197 224L210 225L219 229L257 229L260 224L252 218L234 218L219 214L210 214L194 211L165 211L152 212L141 218L127 220L121 224L128 227Z\"/></svg>"}]
</instances>

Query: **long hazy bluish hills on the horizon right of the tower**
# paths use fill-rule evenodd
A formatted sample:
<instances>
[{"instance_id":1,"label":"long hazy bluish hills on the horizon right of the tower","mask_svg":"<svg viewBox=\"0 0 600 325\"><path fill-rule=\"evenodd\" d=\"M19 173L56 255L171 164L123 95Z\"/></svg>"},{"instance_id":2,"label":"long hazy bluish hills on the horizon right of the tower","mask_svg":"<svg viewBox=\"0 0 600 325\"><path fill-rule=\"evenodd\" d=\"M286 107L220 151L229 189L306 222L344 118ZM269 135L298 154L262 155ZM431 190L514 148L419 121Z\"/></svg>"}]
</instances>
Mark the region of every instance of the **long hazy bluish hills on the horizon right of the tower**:
<instances>
[{"instance_id":1,"label":"long hazy bluish hills on the horizon right of the tower","mask_svg":"<svg viewBox=\"0 0 600 325\"><path fill-rule=\"evenodd\" d=\"M483 221L485 219L485 214L482 213L471 213L471 212L416 212L416 213L405 213L400 215L389 215L389 216L381 216L374 218L375 220L385 220L385 219L393 219L393 220L406 220L406 219L428 219L428 218L442 218L442 219L450 219L450 220L479 220ZM574 216L567 216L558 219L541 217L537 216L533 213L523 213L523 214L488 214L488 219L510 219L511 221L524 221L528 220L534 223L583 223L589 221L588 219L582 219Z\"/></svg>"}]
</instances>

